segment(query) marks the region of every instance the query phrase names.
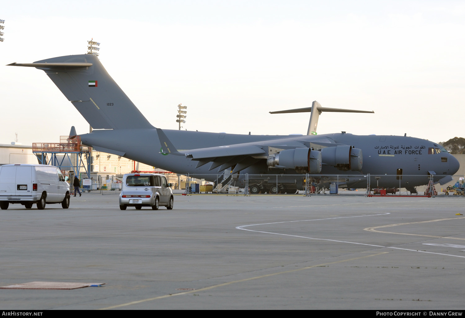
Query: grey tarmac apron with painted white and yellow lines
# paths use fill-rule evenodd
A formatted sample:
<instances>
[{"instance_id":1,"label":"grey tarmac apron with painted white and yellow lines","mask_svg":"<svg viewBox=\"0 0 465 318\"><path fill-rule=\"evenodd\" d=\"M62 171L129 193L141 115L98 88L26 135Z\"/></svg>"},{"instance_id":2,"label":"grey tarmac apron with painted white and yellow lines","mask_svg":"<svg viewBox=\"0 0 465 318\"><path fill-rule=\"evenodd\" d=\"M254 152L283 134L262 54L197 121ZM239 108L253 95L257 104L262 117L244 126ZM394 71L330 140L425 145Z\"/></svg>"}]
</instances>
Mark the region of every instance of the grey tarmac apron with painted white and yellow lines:
<instances>
[{"instance_id":1,"label":"grey tarmac apron with painted white and yellow lines","mask_svg":"<svg viewBox=\"0 0 465 318\"><path fill-rule=\"evenodd\" d=\"M117 194L117 193L115 193ZM0 212L2 310L464 309L464 197L175 195Z\"/></svg>"}]
</instances>

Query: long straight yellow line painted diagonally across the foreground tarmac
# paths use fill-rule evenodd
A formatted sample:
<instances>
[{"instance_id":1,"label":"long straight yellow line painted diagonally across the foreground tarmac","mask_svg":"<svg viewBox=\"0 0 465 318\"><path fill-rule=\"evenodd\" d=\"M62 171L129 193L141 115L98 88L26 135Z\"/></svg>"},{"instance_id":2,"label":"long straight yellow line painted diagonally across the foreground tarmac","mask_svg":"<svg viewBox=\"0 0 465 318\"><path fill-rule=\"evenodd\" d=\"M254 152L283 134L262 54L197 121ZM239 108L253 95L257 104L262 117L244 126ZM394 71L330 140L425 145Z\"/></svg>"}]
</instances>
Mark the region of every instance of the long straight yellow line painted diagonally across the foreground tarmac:
<instances>
[{"instance_id":1,"label":"long straight yellow line painted diagonally across the foreground tarmac","mask_svg":"<svg viewBox=\"0 0 465 318\"><path fill-rule=\"evenodd\" d=\"M362 253L369 253L369 252L362 252ZM343 259L343 260L336 261L336 262L313 265L313 266L306 266L306 267L294 269L294 270L291 270L291 271L277 272L277 273L272 273L272 274L255 276L255 277L251 277L251 278L233 280L231 282L218 284L218 285L213 285L213 286L208 286L208 287L204 287L204 288L199 288L199 289L195 289L193 291L183 291L183 292L179 292L179 293L176 293L176 294L168 294L168 295L163 295L163 296L158 296L158 297L153 297L153 298L146 298L146 299L136 300L136 301L132 301L132 302L129 302L129 303L126 303L126 304L120 304L120 305L114 305L114 306L110 306L110 307L100 308L99 310L108 310L108 309L120 308L120 307L124 307L124 306L140 304L140 303L143 303L143 302L146 302L146 301L151 301L151 300L163 299L163 298L168 298L168 297L172 297L172 296L186 295L186 294L191 294L191 293L199 292L199 291L207 291L209 289L213 289L213 288L216 288L216 287L222 287L222 286L227 286L227 285L231 285L231 284L242 283L242 282L246 282L246 281L253 280L253 279L265 278L265 277L275 276L275 275L279 275L279 274L287 274L287 273L292 273L292 272L298 272L298 271L302 271L302 270L309 269L309 268L314 268L314 267L319 267L319 266L326 266L326 265L337 264L337 263L342 263L342 262L348 262L348 261L351 261L351 260L367 258L367 257L371 257L371 256L377 256L377 255L386 254L386 253L389 253L389 252L378 252L376 254L366 255L366 256L362 256L362 257Z\"/></svg>"}]
</instances>

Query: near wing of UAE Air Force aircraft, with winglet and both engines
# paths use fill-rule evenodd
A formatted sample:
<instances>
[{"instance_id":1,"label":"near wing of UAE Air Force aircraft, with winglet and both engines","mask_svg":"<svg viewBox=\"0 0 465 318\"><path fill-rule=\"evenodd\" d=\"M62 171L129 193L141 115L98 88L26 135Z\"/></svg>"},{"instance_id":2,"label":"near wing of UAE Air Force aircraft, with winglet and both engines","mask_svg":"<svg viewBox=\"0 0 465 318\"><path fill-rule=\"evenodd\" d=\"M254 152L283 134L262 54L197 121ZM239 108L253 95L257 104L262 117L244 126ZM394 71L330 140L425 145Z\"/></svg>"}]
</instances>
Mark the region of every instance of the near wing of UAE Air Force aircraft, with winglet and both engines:
<instances>
[{"instance_id":1,"label":"near wing of UAE Air Force aircraft, with winglet and both engines","mask_svg":"<svg viewBox=\"0 0 465 318\"><path fill-rule=\"evenodd\" d=\"M211 163L210 169L223 170L233 167L239 172L266 160L268 168L294 169L299 173L319 173L321 166L334 166L339 170L361 171L362 150L350 145L338 144L326 137L279 138L234 145L176 150L163 130L157 128L161 151L185 156L198 161L196 168Z\"/></svg>"}]
</instances>

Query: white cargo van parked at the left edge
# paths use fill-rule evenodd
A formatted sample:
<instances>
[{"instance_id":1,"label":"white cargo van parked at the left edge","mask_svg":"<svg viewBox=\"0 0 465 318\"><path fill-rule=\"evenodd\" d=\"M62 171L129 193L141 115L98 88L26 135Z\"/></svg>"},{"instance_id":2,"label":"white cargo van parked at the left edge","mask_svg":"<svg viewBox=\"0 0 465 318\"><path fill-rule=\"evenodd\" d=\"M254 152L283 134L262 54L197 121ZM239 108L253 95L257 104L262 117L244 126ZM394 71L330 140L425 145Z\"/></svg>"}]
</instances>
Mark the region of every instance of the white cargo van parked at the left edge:
<instances>
[{"instance_id":1,"label":"white cargo van parked at the left edge","mask_svg":"<svg viewBox=\"0 0 465 318\"><path fill-rule=\"evenodd\" d=\"M43 210L46 203L69 207L69 184L60 169L47 165L0 166L0 208L21 204L30 209L34 203Z\"/></svg>"}]
</instances>

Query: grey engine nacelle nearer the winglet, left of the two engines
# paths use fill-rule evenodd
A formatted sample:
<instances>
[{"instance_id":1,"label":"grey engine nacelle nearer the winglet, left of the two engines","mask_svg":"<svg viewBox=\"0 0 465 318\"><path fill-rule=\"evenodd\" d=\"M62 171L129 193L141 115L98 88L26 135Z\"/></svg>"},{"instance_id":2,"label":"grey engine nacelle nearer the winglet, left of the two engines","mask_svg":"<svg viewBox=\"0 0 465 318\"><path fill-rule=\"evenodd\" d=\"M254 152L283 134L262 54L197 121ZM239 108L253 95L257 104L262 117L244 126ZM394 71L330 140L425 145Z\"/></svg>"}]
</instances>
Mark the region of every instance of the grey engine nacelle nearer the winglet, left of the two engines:
<instances>
[{"instance_id":1,"label":"grey engine nacelle nearer the winglet, left of the two engines","mask_svg":"<svg viewBox=\"0 0 465 318\"><path fill-rule=\"evenodd\" d=\"M320 173L321 152L310 148L282 150L274 157L267 159L269 168L294 169L298 173Z\"/></svg>"}]
</instances>

